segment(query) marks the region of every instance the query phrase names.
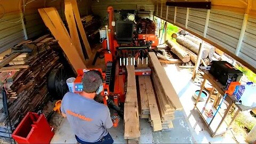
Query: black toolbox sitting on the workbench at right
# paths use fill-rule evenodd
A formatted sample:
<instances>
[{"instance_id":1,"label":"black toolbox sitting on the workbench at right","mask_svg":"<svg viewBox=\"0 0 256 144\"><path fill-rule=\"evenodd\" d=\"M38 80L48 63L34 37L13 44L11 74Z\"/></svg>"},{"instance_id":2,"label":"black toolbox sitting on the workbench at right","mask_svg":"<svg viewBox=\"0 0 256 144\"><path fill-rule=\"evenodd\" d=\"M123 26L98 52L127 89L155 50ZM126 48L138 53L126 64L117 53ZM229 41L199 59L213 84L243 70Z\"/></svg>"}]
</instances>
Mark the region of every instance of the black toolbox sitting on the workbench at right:
<instances>
[{"instance_id":1,"label":"black toolbox sitting on the workbench at right","mask_svg":"<svg viewBox=\"0 0 256 144\"><path fill-rule=\"evenodd\" d=\"M212 61L210 73L223 85L227 84L229 78L231 82L239 82L243 76L242 71L227 61Z\"/></svg>"}]
</instances>

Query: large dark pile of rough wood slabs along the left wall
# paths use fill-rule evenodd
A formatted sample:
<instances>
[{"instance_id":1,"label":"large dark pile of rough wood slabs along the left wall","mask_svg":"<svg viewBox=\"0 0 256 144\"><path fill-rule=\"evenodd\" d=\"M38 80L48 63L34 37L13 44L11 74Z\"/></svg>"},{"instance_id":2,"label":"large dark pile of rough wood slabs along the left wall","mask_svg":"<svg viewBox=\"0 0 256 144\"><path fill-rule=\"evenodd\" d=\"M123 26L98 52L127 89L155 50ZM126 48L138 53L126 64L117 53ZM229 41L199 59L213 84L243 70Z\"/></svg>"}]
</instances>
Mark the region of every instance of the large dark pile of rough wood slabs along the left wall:
<instances>
[{"instance_id":1,"label":"large dark pile of rough wood slabs along the left wall","mask_svg":"<svg viewBox=\"0 0 256 144\"><path fill-rule=\"evenodd\" d=\"M13 127L17 126L28 111L34 111L48 101L47 75L53 68L59 68L62 65L57 52L51 49L51 45L56 43L53 38L42 36L29 43L34 45L34 49L31 53L26 54L26 58L23 59L24 65L1 68L4 70L1 76L4 76L3 73L6 73L6 70L7 74L11 74L11 77L6 75L2 82L7 91L7 105ZM9 121L1 108L0 127L5 127L7 122Z\"/></svg>"}]
</instances>

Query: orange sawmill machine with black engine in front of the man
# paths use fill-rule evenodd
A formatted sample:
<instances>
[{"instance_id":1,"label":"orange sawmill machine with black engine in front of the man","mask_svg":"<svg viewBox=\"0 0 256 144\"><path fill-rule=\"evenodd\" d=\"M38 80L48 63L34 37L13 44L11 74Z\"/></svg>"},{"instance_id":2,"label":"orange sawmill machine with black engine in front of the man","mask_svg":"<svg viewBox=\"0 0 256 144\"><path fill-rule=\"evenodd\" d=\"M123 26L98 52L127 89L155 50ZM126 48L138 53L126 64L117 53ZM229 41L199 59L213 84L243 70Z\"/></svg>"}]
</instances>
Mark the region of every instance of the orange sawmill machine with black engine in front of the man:
<instances>
[{"instance_id":1,"label":"orange sawmill machine with black engine in front of the man","mask_svg":"<svg viewBox=\"0 0 256 144\"><path fill-rule=\"evenodd\" d=\"M107 12L108 26L102 29L105 33L105 37L101 39L102 48L98 50L93 61L94 65L99 55L103 54L106 71L103 72L100 68L93 68L93 70L98 70L105 80L101 92L102 102L114 109L114 115L111 118L116 122L114 126L117 126L119 118L123 118L126 66L134 65L135 75L150 75L151 69L147 67L148 51L158 45L158 37L155 33L142 34L146 24L145 22L135 22L135 14L126 13L125 19L115 20L113 7L109 6ZM144 20L150 21L149 19ZM137 67L139 61L144 67ZM87 70L90 69L77 70L78 76L74 82L76 93L83 90L82 77Z\"/></svg>"}]
</instances>

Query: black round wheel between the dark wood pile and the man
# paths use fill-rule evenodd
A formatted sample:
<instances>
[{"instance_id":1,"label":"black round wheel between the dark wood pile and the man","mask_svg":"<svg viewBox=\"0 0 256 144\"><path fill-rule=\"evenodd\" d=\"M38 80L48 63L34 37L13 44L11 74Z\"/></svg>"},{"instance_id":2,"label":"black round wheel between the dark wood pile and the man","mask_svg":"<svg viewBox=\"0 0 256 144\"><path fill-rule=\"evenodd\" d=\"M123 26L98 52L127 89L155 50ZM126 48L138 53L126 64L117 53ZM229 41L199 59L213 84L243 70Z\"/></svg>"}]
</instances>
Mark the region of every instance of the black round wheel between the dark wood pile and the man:
<instances>
[{"instance_id":1,"label":"black round wheel between the dark wood pile and the man","mask_svg":"<svg viewBox=\"0 0 256 144\"><path fill-rule=\"evenodd\" d=\"M68 92L66 80L67 73L63 67L51 70L47 79L47 87L54 99L60 100Z\"/></svg>"}]
</instances>

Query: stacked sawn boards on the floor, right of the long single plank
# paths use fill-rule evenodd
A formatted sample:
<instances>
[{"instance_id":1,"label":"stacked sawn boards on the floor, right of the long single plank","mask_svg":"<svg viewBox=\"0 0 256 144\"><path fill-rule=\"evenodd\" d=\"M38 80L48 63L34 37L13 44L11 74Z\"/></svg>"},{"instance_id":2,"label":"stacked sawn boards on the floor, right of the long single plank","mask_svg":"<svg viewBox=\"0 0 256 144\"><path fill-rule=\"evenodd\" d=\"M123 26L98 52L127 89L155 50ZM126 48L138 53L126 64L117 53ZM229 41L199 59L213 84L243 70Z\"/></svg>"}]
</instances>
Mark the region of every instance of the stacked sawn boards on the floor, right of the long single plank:
<instances>
[{"instance_id":1,"label":"stacked sawn boards on the floor, right of the long single plank","mask_svg":"<svg viewBox=\"0 0 256 144\"><path fill-rule=\"evenodd\" d=\"M149 64L151 78L139 76L141 118L148 118L154 131L170 131L174 111L182 105L154 52L149 52Z\"/></svg>"}]
</instances>

